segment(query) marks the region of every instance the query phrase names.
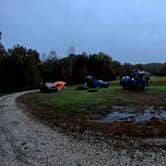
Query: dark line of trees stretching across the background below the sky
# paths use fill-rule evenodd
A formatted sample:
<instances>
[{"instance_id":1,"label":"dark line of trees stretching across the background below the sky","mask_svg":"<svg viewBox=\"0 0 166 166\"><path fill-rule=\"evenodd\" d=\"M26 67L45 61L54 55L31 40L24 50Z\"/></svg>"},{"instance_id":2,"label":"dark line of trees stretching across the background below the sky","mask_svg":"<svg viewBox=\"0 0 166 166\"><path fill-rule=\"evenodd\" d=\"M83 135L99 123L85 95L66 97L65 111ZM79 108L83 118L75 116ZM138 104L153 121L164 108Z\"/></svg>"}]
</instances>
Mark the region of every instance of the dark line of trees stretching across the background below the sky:
<instances>
[{"instance_id":1,"label":"dark line of trees stretching across the background below the sky","mask_svg":"<svg viewBox=\"0 0 166 166\"><path fill-rule=\"evenodd\" d=\"M0 93L38 88L41 82L57 80L69 85L79 84L87 75L111 81L129 74L134 68L166 76L166 63L122 64L104 52L69 53L67 57L57 58L56 52L51 51L48 58L41 60L36 50L16 45L0 50Z\"/></svg>"}]
</instances>

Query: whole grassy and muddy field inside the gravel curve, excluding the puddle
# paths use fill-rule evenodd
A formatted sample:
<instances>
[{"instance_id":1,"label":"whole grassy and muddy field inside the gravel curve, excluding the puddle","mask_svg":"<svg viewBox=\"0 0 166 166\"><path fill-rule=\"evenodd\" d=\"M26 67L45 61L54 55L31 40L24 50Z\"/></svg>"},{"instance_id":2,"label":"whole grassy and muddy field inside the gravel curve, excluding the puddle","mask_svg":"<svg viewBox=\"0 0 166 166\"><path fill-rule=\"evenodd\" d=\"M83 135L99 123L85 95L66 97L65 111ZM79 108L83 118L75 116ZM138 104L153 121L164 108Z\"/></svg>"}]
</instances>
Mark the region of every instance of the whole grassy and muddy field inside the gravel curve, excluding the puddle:
<instances>
[{"instance_id":1,"label":"whole grassy and muddy field inside the gravel curve, excluding the puddle","mask_svg":"<svg viewBox=\"0 0 166 166\"><path fill-rule=\"evenodd\" d=\"M19 98L30 107L30 112L37 115L44 122L69 128L72 131L83 132L91 130L101 132L106 137L112 135L129 135L140 137L165 137L166 122L152 119L147 124L131 122L99 123L95 120L102 119L114 111L115 106L123 110L143 112L145 108L161 107L166 111L166 77L152 77L153 84L144 91L123 90L118 81L113 82L109 88L99 88L97 92L87 90L78 91L75 87L67 87L63 91L52 94L40 92L26 94ZM126 109L127 108L127 109Z\"/></svg>"}]
</instances>

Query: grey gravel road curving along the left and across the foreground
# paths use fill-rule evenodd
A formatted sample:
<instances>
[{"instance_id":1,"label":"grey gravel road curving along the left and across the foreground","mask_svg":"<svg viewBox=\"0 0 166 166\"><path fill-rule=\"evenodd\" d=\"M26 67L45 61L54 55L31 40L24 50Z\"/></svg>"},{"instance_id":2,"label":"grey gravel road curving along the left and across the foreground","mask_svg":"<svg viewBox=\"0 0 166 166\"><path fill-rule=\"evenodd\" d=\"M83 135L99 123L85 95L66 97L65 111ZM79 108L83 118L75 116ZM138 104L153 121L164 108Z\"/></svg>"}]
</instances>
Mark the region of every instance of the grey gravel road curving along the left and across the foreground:
<instances>
[{"instance_id":1,"label":"grey gravel road curving along the left and across the foreground","mask_svg":"<svg viewBox=\"0 0 166 166\"><path fill-rule=\"evenodd\" d=\"M141 149L132 139L119 145L112 140L108 146L92 137L76 139L51 129L17 107L15 99L21 94L0 98L0 166L166 165L163 147ZM166 145L165 139L142 142L146 147Z\"/></svg>"}]
</instances>

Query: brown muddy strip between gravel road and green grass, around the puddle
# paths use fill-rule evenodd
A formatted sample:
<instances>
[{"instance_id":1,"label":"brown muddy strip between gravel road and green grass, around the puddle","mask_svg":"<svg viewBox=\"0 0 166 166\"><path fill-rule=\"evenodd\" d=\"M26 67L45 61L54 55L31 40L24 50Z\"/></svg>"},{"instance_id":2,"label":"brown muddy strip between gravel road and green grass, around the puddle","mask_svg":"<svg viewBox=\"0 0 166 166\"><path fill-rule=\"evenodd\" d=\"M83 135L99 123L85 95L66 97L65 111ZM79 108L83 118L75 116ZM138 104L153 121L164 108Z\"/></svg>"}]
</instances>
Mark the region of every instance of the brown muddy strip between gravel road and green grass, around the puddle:
<instances>
[{"instance_id":1,"label":"brown muddy strip between gravel road and green grass, around the puddle","mask_svg":"<svg viewBox=\"0 0 166 166\"><path fill-rule=\"evenodd\" d=\"M134 93L130 93L130 98L137 99L139 101L139 105L134 107L128 106L114 106L111 110L103 110L103 111L92 111L89 117L92 119L81 119L79 116L75 117L73 115L65 115L65 114L57 114L55 108L52 108L49 105L44 104L34 104L29 100L30 95L23 95L17 99L18 103L24 103L26 110L28 110L31 115L34 115L37 119L41 120L42 123L52 126L52 127L60 127L61 129L67 130L67 132L73 133L84 133L86 131L90 131L97 135L99 133L102 134L106 140L114 137L114 136L130 136L130 137L140 137L140 138L166 138L166 120L165 119L157 119L155 117L151 118L148 122L137 124L132 121L120 121L118 123L107 123L103 121L101 123L100 118L105 115L116 111L122 110L122 112L131 111L134 109L134 112L142 113L144 109L147 109L145 104L149 104L153 101L154 108L160 107L160 105L165 106L164 97L165 95L146 97L143 93L137 94L137 97L134 98ZM161 99L162 97L162 99ZM146 100L146 102L144 101ZM148 106L149 107L149 106ZM155 109L156 109L155 108ZM165 107L164 107L165 110ZM166 110L165 110L166 114ZM93 118L99 118L99 121Z\"/></svg>"}]
</instances>

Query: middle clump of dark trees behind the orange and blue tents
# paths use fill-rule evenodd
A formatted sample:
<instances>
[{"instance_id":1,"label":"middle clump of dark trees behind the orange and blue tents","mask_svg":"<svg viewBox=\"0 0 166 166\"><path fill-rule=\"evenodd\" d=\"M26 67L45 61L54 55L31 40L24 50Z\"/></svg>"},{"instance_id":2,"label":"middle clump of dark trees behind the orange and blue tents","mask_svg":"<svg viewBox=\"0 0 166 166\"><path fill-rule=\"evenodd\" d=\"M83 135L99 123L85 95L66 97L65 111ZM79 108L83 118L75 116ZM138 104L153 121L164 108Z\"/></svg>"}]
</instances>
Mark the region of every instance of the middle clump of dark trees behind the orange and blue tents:
<instances>
[{"instance_id":1,"label":"middle clump of dark trees behind the orange and blue tents","mask_svg":"<svg viewBox=\"0 0 166 166\"><path fill-rule=\"evenodd\" d=\"M114 63L112 58L103 52L89 56L82 53L69 54L62 59L48 59L40 64L40 69L44 81L64 80L68 84L79 84L87 75L103 80L114 79L119 74L115 64L120 66L120 62Z\"/></svg>"}]
</instances>

